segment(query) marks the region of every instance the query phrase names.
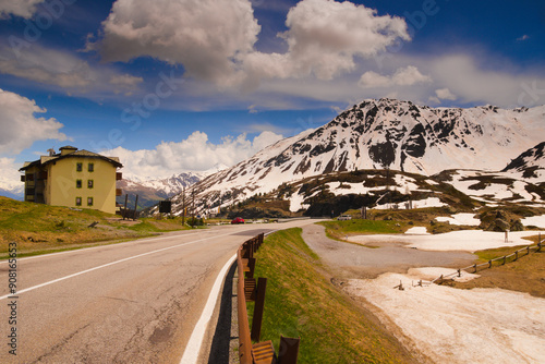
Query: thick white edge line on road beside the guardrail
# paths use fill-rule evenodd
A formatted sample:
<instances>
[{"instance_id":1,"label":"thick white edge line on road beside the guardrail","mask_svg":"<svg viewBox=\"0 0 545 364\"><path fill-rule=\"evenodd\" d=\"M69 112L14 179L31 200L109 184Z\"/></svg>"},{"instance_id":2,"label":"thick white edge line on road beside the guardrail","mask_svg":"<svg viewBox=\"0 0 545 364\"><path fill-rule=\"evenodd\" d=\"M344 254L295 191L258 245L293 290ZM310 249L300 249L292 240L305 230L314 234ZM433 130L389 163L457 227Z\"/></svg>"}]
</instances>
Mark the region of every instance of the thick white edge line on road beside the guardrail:
<instances>
[{"instance_id":1,"label":"thick white edge line on road beside the guardrail","mask_svg":"<svg viewBox=\"0 0 545 364\"><path fill-rule=\"evenodd\" d=\"M219 291L221 289L221 284L223 283L223 279L226 278L227 270L232 266L234 260L237 259L237 254L234 254L221 268L214 286L211 288L210 294L208 295L208 300L206 301L203 313L201 314L201 318L196 323L193 328L193 332L191 333L190 341L185 345L185 351L183 352L182 360L180 364L195 364L198 360L198 353L201 352L201 347L203 344L204 336L206 333L206 328L208 323L211 319L214 314L214 308L216 307L216 303L219 299Z\"/></svg>"}]
</instances>

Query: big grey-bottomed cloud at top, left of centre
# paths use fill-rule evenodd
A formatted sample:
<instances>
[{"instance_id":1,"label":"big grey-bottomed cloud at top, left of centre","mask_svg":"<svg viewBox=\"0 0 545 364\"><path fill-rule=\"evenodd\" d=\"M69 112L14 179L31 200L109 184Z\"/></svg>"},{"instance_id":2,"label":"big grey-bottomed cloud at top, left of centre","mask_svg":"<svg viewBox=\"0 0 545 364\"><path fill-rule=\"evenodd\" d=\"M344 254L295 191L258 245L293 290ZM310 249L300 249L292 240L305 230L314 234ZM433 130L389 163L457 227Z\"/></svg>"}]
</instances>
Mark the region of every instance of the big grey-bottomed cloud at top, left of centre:
<instances>
[{"instance_id":1,"label":"big grey-bottomed cloud at top, left of centre","mask_svg":"<svg viewBox=\"0 0 545 364\"><path fill-rule=\"evenodd\" d=\"M88 49L105 61L149 56L183 64L193 77L230 84L233 59L253 49L259 31L247 0L118 0L102 39Z\"/></svg>"}]
</instances>

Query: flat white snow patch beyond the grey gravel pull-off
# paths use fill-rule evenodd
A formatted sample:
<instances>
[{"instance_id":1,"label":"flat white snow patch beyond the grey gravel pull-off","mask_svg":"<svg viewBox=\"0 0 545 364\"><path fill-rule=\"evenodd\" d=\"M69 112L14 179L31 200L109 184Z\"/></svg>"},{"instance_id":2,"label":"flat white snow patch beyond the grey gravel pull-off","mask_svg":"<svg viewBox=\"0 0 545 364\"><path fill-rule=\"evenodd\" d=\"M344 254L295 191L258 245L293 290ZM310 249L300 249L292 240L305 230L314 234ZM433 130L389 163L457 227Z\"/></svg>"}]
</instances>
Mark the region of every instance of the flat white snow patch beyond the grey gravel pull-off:
<instances>
[{"instance_id":1,"label":"flat white snow patch beyond the grey gravel pull-off","mask_svg":"<svg viewBox=\"0 0 545 364\"><path fill-rule=\"evenodd\" d=\"M348 240L354 243L397 242L407 243L408 247L423 251L465 251L475 252L504 246L530 245L529 240L522 238L537 235L540 231L517 231L509 233L509 242L505 242L502 232L482 230L451 231L434 235L354 235ZM541 231L544 234L544 231Z\"/></svg>"}]
</instances>

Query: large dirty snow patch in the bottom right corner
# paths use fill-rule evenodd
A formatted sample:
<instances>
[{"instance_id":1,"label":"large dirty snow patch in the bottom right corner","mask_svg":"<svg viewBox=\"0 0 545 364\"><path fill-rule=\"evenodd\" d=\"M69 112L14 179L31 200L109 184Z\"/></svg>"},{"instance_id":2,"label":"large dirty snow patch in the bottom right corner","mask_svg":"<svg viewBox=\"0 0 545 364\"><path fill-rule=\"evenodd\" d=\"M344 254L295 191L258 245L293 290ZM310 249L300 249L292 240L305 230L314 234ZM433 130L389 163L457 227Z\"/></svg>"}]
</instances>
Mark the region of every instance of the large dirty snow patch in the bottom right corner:
<instances>
[{"instance_id":1,"label":"large dirty snow patch in the bottom right corner","mask_svg":"<svg viewBox=\"0 0 545 364\"><path fill-rule=\"evenodd\" d=\"M413 287L419 272L344 287L379 307L434 362L543 363L545 300L500 289ZM400 281L402 291L393 289Z\"/></svg>"}]
</instances>

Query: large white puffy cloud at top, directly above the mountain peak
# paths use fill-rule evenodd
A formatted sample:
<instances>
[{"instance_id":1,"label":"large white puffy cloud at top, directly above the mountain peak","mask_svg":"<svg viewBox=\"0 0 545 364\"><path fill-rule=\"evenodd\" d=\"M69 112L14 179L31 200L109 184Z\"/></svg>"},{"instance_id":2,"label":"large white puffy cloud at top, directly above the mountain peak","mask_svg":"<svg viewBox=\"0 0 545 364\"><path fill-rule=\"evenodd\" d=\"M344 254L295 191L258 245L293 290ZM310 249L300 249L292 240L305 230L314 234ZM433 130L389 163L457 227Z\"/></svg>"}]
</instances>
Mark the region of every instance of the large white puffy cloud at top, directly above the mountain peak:
<instances>
[{"instance_id":1,"label":"large white puffy cloud at top, directly above the mountain peak","mask_svg":"<svg viewBox=\"0 0 545 364\"><path fill-rule=\"evenodd\" d=\"M288 31L279 36L287 53L252 52L244 58L250 80L314 75L331 80L353 71L355 58L384 51L398 39L410 40L404 20L377 16L376 11L349 1L302 0L288 13Z\"/></svg>"}]
</instances>

